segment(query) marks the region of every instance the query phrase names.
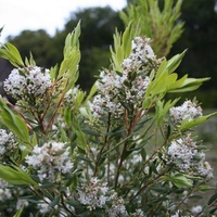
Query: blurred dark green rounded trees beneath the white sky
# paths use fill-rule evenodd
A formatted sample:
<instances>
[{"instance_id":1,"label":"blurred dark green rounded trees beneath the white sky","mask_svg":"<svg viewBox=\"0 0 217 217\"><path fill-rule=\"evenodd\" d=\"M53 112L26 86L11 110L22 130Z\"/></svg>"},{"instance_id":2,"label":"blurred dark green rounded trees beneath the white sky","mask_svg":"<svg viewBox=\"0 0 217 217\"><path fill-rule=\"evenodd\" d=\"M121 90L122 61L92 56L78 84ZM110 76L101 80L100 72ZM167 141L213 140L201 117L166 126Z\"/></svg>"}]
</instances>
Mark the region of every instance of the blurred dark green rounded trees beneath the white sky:
<instances>
[{"instance_id":1,"label":"blurred dark green rounded trees beneath the white sky","mask_svg":"<svg viewBox=\"0 0 217 217\"><path fill-rule=\"evenodd\" d=\"M110 46L115 27L124 29L118 13L111 8L89 8L73 12L63 30L58 30L54 37L50 37L44 30L25 30L20 36L9 37L9 41L20 49L22 56L28 56L30 50L38 65L51 67L62 61L63 53L60 50L64 46L65 37L79 21L82 59L78 84L82 89L89 90L99 69L110 65Z\"/></svg>"}]
</instances>

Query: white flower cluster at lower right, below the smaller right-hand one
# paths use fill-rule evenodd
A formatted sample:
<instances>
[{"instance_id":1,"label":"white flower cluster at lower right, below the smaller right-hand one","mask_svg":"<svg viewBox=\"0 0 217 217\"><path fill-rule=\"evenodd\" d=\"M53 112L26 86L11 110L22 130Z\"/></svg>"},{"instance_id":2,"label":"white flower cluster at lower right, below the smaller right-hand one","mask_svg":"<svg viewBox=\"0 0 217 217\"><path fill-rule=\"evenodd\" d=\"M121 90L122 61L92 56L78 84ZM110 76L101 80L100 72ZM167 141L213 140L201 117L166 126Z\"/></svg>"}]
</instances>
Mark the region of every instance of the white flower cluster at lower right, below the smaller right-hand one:
<instances>
[{"instance_id":1,"label":"white flower cluster at lower right, below the smaller right-hand one","mask_svg":"<svg viewBox=\"0 0 217 217\"><path fill-rule=\"evenodd\" d=\"M213 177L213 169L205 161L205 153L197 150L191 135L171 141L167 153L169 163L175 164L180 171L192 173L208 179Z\"/></svg>"}]
</instances>

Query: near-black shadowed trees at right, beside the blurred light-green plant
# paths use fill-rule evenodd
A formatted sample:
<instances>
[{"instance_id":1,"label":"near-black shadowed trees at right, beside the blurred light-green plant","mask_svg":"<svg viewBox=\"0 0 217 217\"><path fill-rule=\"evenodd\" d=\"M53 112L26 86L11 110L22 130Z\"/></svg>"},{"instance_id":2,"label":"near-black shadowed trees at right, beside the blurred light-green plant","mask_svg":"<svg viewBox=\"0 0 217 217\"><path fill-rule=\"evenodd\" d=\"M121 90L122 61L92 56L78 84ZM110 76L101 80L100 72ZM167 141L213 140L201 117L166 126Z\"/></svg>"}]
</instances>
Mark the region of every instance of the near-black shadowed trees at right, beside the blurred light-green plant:
<instances>
[{"instance_id":1,"label":"near-black shadowed trees at right, beside the blurred light-green plant","mask_svg":"<svg viewBox=\"0 0 217 217\"><path fill-rule=\"evenodd\" d=\"M182 37L175 43L171 55L188 48L187 58L180 66L180 74L191 72L193 77L212 77L203 86L201 99L206 98L212 91L216 92L217 63L214 53L217 52L217 13L216 1L192 0L183 1L180 18L184 21ZM204 94L203 94L204 93ZM215 97L209 107L216 106Z\"/></svg>"}]
</instances>

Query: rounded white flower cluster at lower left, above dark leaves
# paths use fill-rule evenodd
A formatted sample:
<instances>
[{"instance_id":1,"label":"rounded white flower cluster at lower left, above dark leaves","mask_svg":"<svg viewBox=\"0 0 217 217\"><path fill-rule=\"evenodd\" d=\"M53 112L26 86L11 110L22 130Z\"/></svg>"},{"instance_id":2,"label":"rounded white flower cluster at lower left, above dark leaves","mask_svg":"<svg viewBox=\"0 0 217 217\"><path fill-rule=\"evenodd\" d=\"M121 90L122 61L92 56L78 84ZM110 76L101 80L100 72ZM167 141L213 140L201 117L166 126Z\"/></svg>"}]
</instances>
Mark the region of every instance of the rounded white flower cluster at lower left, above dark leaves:
<instances>
[{"instance_id":1,"label":"rounded white flower cluster at lower left, above dark leaves","mask_svg":"<svg viewBox=\"0 0 217 217\"><path fill-rule=\"evenodd\" d=\"M41 181L55 181L59 174L68 174L73 168L68 149L65 149L65 143L55 141L36 145L31 155L26 156L26 163L37 169Z\"/></svg>"}]
</instances>

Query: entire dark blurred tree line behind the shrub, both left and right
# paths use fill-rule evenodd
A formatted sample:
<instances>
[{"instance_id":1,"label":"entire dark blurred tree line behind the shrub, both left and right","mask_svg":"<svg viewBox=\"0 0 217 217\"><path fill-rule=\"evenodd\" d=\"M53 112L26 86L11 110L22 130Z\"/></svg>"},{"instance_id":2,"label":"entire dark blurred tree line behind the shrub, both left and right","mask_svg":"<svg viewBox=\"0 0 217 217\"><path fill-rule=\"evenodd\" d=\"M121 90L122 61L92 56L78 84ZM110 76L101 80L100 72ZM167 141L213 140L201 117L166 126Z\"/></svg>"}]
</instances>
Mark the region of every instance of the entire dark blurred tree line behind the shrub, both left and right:
<instances>
[{"instance_id":1,"label":"entire dark blurred tree line behind the shrub, both left and right","mask_svg":"<svg viewBox=\"0 0 217 217\"><path fill-rule=\"evenodd\" d=\"M178 1L178 0L177 0ZM136 0L128 0L135 3ZM163 1L159 0L159 4ZM71 33L78 21L81 21L81 63L78 84L84 90L89 90L99 75L99 69L110 64L110 46L113 43L115 27L124 29L124 23L118 11L111 8L89 8L68 15L63 30L56 30L51 37L43 29L24 30L15 37L8 37L8 41L18 48L23 56L29 55L29 50L38 65L53 66L62 61L61 48L64 38ZM168 54L188 49L180 65L180 76L189 74L192 77L212 77L197 92L192 92L205 107L217 107L217 3L216 0L183 0L180 22L184 23L184 30L179 40L173 46ZM2 64L1 64L2 66ZM4 67L5 68L5 67ZM7 71L7 69L5 69ZM207 98L208 95L208 98ZM188 97L189 95L188 93Z\"/></svg>"}]
</instances>

